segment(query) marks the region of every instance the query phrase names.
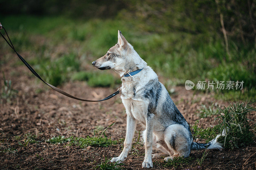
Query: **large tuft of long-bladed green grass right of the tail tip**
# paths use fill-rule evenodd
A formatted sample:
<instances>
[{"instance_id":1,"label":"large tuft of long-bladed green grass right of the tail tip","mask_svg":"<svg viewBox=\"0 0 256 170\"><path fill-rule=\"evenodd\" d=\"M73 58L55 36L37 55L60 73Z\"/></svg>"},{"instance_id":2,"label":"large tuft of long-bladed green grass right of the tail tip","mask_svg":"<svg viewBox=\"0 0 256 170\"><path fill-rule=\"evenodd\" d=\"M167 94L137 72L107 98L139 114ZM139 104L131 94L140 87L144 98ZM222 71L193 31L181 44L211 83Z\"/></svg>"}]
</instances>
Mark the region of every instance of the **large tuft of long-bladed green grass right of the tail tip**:
<instances>
[{"instance_id":1,"label":"large tuft of long-bladed green grass right of the tail tip","mask_svg":"<svg viewBox=\"0 0 256 170\"><path fill-rule=\"evenodd\" d=\"M247 118L247 115L256 111L252 107L254 102L245 104L236 100L236 103L229 104L228 108L221 109L219 107L221 113L216 118L219 119L219 125L216 127L223 135L218 141L223 143L224 147L234 149L253 142L255 122Z\"/></svg>"}]
</instances>

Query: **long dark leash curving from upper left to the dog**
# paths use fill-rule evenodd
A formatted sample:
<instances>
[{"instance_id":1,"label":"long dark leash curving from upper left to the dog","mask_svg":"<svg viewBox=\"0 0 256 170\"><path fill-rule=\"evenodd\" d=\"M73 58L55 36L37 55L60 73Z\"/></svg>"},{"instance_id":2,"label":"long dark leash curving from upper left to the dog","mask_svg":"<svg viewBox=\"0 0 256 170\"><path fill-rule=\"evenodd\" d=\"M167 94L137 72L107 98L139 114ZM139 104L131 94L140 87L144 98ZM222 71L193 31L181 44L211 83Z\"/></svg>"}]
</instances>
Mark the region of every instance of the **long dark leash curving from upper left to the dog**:
<instances>
[{"instance_id":1,"label":"long dark leash curving from upper left to the dog","mask_svg":"<svg viewBox=\"0 0 256 170\"><path fill-rule=\"evenodd\" d=\"M7 41L7 39L4 37L4 35L3 35L3 34L1 33L1 31L0 31L2 37L3 37L4 40L8 43L8 45L13 49L13 51L18 55L18 57L20 58L20 60L28 67L28 69L29 69L37 78L39 78L41 81L43 81L46 85L49 85L53 90L55 90L55 91L57 91L57 92L59 92L59 93L65 95L65 96L68 96L68 97L70 97L70 98L76 99L76 100L91 101L91 102L108 100L108 99L114 97L116 94L120 93L121 89L119 88L116 92L114 92L113 94L109 95L108 97L106 97L106 98L104 98L104 99L102 99L102 100L86 100L86 99L81 99L81 98L72 96L72 95L70 95L70 94L68 94L68 93L66 93L66 92L64 92L64 91L62 91L62 90L60 90L59 88L57 88L57 87L55 87L55 86L53 86L53 85L51 85L51 84L45 82L45 81L36 73L36 71L28 64L28 62L26 62L26 60L15 50L15 48L14 48L14 46L13 46L13 44L12 44L12 41L11 41L11 39L9 38L9 35L7 34L7 32L6 32L5 28L4 28L4 26L2 26L1 23L0 23L0 30L1 30L2 28L4 29L4 32L5 32L5 34L7 35L7 37L8 37L8 39L9 39L10 43Z\"/></svg>"}]
</instances>

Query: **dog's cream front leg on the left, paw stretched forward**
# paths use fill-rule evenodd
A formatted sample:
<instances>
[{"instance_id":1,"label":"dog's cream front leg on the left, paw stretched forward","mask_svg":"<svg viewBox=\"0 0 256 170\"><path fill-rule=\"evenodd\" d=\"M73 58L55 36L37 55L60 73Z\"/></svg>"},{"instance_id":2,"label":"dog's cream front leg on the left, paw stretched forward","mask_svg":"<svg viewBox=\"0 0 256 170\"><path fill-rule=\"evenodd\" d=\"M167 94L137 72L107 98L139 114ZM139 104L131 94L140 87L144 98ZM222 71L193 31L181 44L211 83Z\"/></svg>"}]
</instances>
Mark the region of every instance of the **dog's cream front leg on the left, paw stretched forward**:
<instances>
[{"instance_id":1,"label":"dog's cream front leg on the left, paw stretched forward","mask_svg":"<svg viewBox=\"0 0 256 170\"><path fill-rule=\"evenodd\" d=\"M131 151L132 148L132 139L135 132L136 127L136 120L132 115L126 116L126 135L124 140L124 149L122 153L119 155L119 157L112 158L111 162L123 162L126 158L128 153Z\"/></svg>"}]
</instances>

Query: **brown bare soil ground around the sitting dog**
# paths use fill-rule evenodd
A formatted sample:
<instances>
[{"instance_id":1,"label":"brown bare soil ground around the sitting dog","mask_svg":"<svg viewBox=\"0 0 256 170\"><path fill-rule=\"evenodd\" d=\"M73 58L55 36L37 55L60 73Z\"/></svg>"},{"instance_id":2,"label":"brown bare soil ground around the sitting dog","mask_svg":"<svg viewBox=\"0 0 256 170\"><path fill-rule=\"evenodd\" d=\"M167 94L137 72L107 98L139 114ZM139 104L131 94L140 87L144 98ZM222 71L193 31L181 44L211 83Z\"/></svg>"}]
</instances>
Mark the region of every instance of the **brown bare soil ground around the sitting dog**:
<instances>
[{"instance_id":1,"label":"brown bare soil ground around the sitting dog","mask_svg":"<svg viewBox=\"0 0 256 170\"><path fill-rule=\"evenodd\" d=\"M126 127L124 106L119 95L103 102L70 99L36 80L24 65L14 69L12 64L17 61L10 61L1 68L5 77L12 80L13 89L19 92L16 98L9 102L3 100L0 104L0 169L90 169L121 153L122 142L106 148L84 149L68 144L45 143L46 139L59 135L93 136L97 126L108 127L114 122L106 135L113 140L123 139ZM3 85L2 74L0 79ZM86 82L69 82L60 88L91 100L102 99L116 90L89 87ZM199 119L196 112L202 104L228 105L228 102L216 100L211 94L188 91L183 86L175 87L171 97L190 125ZM213 127L215 117L201 118L198 125L202 128ZM256 120L255 115L250 115L250 118ZM138 124L134 143L138 140L140 130L142 127ZM42 142L26 147L19 145L14 136L22 137L28 133L35 134ZM202 139L199 141L204 142ZM122 167L141 169L144 151L142 144L134 144ZM192 151L192 161L185 166L165 167L163 159L153 160L152 169L256 169L255 144L234 150L210 150L202 166L198 166L196 158L201 158L203 152Z\"/></svg>"}]
</instances>

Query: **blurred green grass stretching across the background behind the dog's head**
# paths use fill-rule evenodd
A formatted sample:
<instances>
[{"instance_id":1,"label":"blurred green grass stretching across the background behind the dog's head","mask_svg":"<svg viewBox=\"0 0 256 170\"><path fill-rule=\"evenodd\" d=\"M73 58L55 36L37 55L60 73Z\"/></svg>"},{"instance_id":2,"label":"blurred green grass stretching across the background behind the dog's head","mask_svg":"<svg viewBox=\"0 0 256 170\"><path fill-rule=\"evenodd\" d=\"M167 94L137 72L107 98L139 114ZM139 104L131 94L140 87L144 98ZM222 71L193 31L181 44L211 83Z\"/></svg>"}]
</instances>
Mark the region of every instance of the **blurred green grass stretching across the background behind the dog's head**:
<instances>
[{"instance_id":1,"label":"blurred green grass stretching across the background behind the dog's head","mask_svg":"<svg viewBox=\"0 0 256 170\"><path fill-rule=\"evenodd\" d=\"M21 52L35 51L36 55L47 58L54 54L56 46L65 46L63 52L55 55L56 57L51 58L50 63L46 62L44 67L39 68L43 70L42 77L54 85L68 81L73 77L71 74L77 72L76 69L79 70L72 54L76 55L76 59L80 59L79 63L82 61L90 64L116 44L117 30L120 29L148 65L157 74L171 80L173 85L184 85L187 79L194 83L199 80L244 81L243 90L214 89L216 97L224 100L233 100L236 97L241 100L256 99L256 65L254 64L256 49L253 45L243 45L229 40L228 55L223 38L214 33L148 32L147 26L143 23L134 20L127 22L118 18L94 18L86 21L64 17L7 16L1 18L11 38L15 39L14 46ZM41 45L37 43L33 38L37 36L45 42ZM0 48L8 49L4 43ZM64 54L70 58L65 58ZM61 57L71 61L57 62ZM36 63L39 64L39 62ZM68 68L72 69L68 70ZM46 73L46 70L49 73ZM93 72L102 74L99 70ZM115 81L113 77L104 74L93 79L90 79L87 73L79 74L72 79L88 79L88 84L91 86L112 86L111 82ZM106 83L102 83L103 81Z\"/></svg>"}]
</instances>

